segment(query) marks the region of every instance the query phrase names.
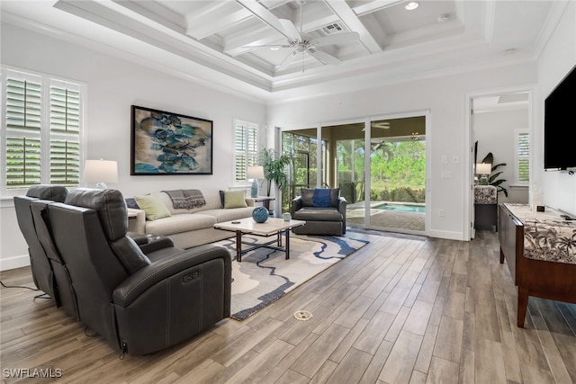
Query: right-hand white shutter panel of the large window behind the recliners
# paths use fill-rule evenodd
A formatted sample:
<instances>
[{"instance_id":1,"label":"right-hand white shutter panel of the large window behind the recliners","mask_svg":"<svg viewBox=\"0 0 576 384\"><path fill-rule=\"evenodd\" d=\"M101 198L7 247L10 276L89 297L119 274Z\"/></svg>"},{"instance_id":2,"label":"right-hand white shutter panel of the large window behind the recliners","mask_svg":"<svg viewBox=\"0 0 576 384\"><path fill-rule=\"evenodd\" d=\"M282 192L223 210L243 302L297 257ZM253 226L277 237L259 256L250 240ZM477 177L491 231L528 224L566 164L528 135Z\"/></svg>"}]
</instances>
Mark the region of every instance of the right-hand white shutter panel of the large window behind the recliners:
<instances>
[{"instance_id":1,"label":"right-hand white shutter panel of the large window behind the recliners","mask_svg":"<svg viewBox=\"0 0 576 384\"><path fill-rule=\"evenodd\" d=\"M50 183L80 182L80 94L50 87Z\"/></svg>"}]
</instances>

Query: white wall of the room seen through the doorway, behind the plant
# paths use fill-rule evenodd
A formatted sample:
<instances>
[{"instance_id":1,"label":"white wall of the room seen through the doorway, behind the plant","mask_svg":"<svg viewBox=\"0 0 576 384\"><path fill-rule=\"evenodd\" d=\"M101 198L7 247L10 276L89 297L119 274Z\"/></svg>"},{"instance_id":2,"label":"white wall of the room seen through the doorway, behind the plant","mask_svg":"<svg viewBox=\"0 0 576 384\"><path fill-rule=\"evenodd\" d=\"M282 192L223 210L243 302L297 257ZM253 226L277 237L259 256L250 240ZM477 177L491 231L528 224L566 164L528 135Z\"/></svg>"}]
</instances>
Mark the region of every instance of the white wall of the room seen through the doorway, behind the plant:
<instances>
[{"instance_id":1,"label":"white wall of the room seen through the doorway, behind the plant","mask_svg":"<svg viewBox=\"0 0 576 384\"><path fill-rule=\"evenodd\" d=\"M508 198L499 193L499 202L528 203L528 187L515 186L516 129L528 129L527 107L514 110L500 110L474 113L474 137L478 140L478 162L482 162L489 152L496 164L505 163L497 172L499 179L506 182L502 186L508 190ZM512 185L512 186L511 186Z\"/></svg>"}]
</instances>

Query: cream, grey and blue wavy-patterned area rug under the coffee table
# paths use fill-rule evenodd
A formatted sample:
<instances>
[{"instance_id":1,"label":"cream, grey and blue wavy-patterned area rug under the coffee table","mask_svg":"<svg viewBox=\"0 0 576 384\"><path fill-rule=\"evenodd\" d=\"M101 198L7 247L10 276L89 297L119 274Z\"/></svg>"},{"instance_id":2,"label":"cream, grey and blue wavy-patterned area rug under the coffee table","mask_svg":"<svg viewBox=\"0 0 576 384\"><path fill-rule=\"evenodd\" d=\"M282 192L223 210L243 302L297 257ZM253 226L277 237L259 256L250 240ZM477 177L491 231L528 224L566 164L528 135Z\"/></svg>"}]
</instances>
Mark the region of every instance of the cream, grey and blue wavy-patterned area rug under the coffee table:
<instances>
[{"instance_id":1,"label":"cream, grey and blue wavy-patterned area rug under the coffee table","mask_svg":"<svg viewBox=\"0 0 576 384\"><path fill-rule=\"evenodd\" d=\"M262 242L263 237L243 239L253 243ZM258 248L242 255L241 263L236 261L234 238L217 244L229 248L232 257L231 317L244 320L353 254L368 241L353 237L291 235L289 260L285 260L284 252Z\"/></svg>"}]
</instances>

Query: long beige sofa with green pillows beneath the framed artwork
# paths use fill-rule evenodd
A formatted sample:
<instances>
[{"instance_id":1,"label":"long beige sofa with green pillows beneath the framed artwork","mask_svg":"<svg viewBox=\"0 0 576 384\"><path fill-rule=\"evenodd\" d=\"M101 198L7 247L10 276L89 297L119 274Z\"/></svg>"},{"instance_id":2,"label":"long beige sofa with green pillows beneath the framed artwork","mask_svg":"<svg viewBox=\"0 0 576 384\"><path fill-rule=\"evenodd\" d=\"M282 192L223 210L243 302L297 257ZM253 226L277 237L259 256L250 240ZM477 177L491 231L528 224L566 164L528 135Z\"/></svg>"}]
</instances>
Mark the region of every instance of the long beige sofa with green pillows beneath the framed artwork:
<instances>
[{"instance_id":1,"label":"long beige sofa with green pillows beneath the framed artwork","mask_svg":"<svg viewBox=\"0 0 576 384\"><path fill-rule=\"evenodd\" d=\"M144 210L129 208L129 230L171 237L176 247L190 248L234 236L232 232L214 229L214 224L252 216L254 200L251 198L246 199L245 208L226 209L222 207L219 190L202 189L201 192L206 205L190 210L175 209L166 192L150 193L162 201L170 216L148 220Z\"/></svg>"}]
</instances>

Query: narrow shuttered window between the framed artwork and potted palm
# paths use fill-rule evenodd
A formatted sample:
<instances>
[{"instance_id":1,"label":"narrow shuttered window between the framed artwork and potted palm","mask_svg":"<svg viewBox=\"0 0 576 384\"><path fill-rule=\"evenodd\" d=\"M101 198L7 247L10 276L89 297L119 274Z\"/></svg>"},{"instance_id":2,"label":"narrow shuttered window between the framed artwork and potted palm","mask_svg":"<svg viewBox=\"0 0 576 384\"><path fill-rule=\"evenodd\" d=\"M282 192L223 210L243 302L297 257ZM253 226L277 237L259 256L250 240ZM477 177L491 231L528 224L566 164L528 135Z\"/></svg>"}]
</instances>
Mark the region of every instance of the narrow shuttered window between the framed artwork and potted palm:
<instances>
[{"instance_id":1,"label":"narrow shuttered window between the framed artwork and potted palm","mask_svg":"<svg viewBox=\"0 0 576 384\"><path fill-rule=\"evenodd\" d=\"M234 123L234 183L247 183L247 167L257 165L258 124L247 121Z\"/></svg>"}]
</instances>

